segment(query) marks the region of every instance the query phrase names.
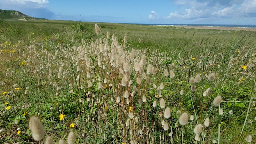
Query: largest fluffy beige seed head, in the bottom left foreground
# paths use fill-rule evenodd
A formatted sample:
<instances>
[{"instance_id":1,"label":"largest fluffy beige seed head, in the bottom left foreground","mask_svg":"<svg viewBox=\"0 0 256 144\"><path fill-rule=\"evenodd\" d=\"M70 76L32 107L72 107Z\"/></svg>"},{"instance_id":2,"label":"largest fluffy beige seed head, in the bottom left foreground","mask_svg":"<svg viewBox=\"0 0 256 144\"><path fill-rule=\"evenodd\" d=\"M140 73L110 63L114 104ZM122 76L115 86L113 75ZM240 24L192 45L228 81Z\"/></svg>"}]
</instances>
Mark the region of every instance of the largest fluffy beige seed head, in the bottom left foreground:
<instances>
[{"instance_id":1,"label":"largest fluffy beige seed head, in the bottom left foreground","mask_svg":"<svg viewBox=\"0 0 256 144\"><path fill-rule=\"evenodd\" d=\"M32 116L29 120L29 128L32 132L32 137L36 141L44 138L44 127L39 118Z\"/></svg>"}]
</instances>

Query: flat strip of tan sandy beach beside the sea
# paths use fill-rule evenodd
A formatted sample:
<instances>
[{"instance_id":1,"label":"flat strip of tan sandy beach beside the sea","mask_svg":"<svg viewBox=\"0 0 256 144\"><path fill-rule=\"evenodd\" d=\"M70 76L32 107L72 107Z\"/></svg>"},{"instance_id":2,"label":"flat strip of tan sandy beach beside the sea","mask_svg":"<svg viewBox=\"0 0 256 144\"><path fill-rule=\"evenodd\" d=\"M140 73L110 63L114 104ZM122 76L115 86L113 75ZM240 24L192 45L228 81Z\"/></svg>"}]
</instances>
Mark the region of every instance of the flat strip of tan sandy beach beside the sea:
<instances>
[{"instance_id":1,"label":"flat strip of tan sandy beach beside the sea","mask_svg":"<svg viewBox=\"0 0 256 144\"><path fill-rule=\"evenodd\" d=\"M219 29L219 30L246 30L256 31L256 28L235 28L235 27L205 27L205 26L173 26L180 28L197 28L197 29Z\"/></svg>"}]
</instances>

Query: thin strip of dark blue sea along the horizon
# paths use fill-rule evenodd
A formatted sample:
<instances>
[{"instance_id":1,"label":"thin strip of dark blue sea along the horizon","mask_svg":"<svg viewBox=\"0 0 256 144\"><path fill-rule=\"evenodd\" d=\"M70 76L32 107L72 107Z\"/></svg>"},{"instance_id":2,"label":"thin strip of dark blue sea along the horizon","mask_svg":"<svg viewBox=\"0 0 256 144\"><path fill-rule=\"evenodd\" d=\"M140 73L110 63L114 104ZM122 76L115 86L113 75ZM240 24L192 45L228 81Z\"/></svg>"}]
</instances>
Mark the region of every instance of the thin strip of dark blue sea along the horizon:
<instances>
[{"instance_id":1,"label":"thin strip of dark blue sea along the horizon","mask_svg":"<svg viewBox=\"0 0 256 144\"><path fill-rule=\"evenodd\" d=\"M227 24L148 24L136 23L138 25L151 25L151 26L201 26L201 27L238 27L238 28L256 28L256 25L227 25Z\"/></svg>"}]
</instances>

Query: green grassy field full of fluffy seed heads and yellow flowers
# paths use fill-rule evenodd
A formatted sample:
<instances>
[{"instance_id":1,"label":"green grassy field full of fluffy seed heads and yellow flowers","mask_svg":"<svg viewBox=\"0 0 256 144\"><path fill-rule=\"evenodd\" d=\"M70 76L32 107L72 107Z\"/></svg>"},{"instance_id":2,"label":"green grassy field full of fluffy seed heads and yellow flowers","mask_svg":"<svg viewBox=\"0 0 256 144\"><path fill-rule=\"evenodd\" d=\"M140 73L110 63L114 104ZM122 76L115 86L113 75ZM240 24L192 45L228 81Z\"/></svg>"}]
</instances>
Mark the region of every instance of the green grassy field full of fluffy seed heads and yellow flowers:
<instances>
[{"instance_id":1,"label":"green grassy field full of fluffy seed heads and yellow flowers","mask_svg":"<svg viewBox=\"0 0 256 144\"><path fill-rule=\"evenodd\" d=\"M0 143L256 142L256 32L97 25L0 23Z\"/></svg>"}]
</instances>

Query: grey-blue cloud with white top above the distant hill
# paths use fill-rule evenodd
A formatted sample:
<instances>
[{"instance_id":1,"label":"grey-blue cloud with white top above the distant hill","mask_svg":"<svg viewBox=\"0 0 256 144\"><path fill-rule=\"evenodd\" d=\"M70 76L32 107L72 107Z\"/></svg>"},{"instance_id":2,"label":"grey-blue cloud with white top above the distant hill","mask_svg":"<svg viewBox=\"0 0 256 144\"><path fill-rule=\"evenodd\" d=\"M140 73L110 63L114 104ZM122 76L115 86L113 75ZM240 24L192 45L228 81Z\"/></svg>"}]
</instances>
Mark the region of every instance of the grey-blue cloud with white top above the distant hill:
<instances>
[{"instance_id":1,"label":"grey-blue cloud with white top above the distant hill","mask_svg":"<svg viewBox=\"0 0 256 144\"><path fill-rule=\"evenodd\" d=\"M1 0L0 9L20 11L28 16L51 19L54 13L48 0Z\"/></svg>"}]
</instances>

